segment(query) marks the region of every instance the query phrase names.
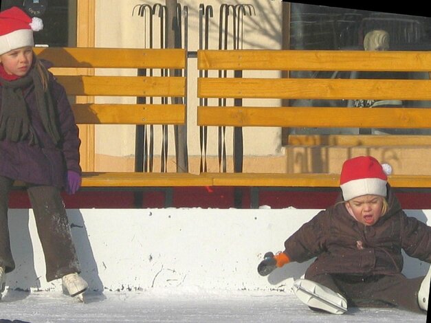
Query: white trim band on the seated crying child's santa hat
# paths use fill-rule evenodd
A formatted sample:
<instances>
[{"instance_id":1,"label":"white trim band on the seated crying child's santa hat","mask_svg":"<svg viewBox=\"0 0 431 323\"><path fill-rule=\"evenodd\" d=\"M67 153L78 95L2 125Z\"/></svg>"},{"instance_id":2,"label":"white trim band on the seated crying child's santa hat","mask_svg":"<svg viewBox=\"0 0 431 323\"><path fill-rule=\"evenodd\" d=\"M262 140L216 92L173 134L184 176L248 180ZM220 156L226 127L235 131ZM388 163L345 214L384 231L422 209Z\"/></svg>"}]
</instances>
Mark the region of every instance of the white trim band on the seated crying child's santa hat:
<instances>
[{"instance_id":1,"label":"white trim band on the seated crying child's santa hat","mask_svg":"<svg viewBox=\"0 0 431 323\"><path fill-rule=\"evenodd\" d=\"M353 179L342 185L340 188L343 192L344 201L350 201L355 197L361 197L362 195L379 195L386 197L386 181L379 178L362 178Z\"/></svg>"}]
</instances>

